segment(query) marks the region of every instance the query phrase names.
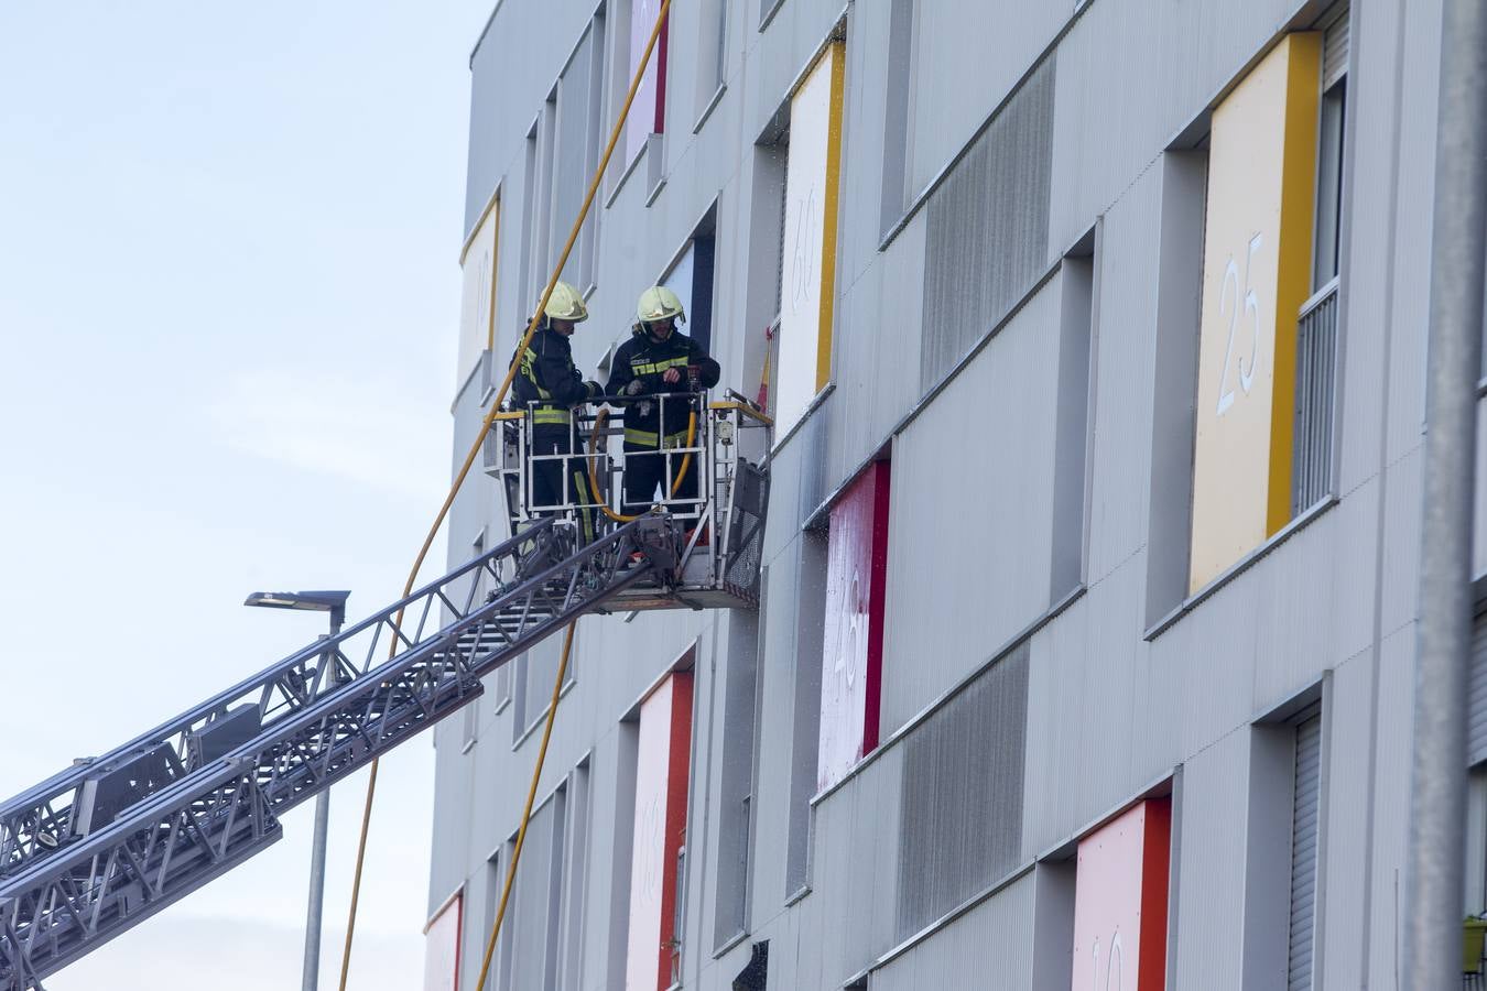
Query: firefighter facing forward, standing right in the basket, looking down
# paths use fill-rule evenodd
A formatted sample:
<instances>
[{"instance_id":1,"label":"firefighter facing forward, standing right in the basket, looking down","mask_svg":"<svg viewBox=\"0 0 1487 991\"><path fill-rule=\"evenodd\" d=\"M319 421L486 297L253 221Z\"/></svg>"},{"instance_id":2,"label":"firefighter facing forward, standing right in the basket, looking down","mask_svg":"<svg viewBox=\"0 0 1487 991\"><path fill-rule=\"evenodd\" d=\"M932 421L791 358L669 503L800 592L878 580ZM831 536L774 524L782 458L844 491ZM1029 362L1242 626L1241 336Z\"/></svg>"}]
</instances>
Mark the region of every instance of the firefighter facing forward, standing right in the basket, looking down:
<instances>
[{"instance_id":1,"label":"firefighter facing forward, standing right in the basket, looking down","mask_svg":"<svg viewBox=\"0 0 1487 991\"><path fill-rule=\"evenodd\" d=\"M677 499L697 498L697 461L687 464L680 484L668 480L665 452L687 444L688 415L696 412L693 394L718 383L718 363L706 349L677 330L687 313L681 300L665 285L641 293L638 321L630 339L614 352L610 395L636 397L625 403L625 507L642 513L654 502L657 487L675 484ZM681 469L672 458L672 472ZM663 490L662 501L674 498Z\"/></svg>"}]
</instances>

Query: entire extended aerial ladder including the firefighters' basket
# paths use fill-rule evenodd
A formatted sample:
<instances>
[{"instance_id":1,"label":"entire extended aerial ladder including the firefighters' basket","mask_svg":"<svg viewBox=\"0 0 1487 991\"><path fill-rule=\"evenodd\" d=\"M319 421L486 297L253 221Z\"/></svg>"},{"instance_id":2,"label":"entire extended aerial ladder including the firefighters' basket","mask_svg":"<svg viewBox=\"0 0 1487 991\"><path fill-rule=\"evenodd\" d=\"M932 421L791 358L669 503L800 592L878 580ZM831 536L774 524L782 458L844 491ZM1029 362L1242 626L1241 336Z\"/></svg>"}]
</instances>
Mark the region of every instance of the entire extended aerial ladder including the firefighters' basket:
<instances>
[{"instance_id":1,"label":"entire extended aerial ladder including the firefighters' basket","mask_svg":"<svg viewBox=\"0 0 1487 991\"><path fill-rule=\"evenodd\" d=\"M286 810L477 698L482 678L589 612L757 605L769 420L694 401L699 496L583 544L570 502L531 511L531 415L501 415L486 471L515 493L513 536L339 634L116 750L0 804L0 991L42 979L283 835ZM515 420L515 423L513 423ZM595 477L617 468L598 447ZM512 423L515 438L503 432ZM754 440L754 458L745 456ZM516 446L512 456L510 444ZM668 459L669 461L669 459ZM681 464L668 469L684 471ZM711 533L711 536L706 536Z\"/></svg>"}]
</instances>

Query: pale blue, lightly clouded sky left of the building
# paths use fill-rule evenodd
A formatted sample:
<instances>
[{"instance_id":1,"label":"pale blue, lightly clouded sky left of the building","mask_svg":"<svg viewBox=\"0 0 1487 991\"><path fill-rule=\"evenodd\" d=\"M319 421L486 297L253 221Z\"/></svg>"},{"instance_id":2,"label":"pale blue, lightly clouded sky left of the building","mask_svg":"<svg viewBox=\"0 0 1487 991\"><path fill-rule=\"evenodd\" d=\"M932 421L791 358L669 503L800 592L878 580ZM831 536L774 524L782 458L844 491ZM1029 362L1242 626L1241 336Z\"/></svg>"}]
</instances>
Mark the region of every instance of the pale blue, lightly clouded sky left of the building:
<instances>
[{"instance_id":1,"label":"pale blue, lightly clouded sky left of the building","mask_svg":"<svg viewBox=\"0 0 1487 991\"><path fill-rule=\"evenodd\" d=\"M0 796L324 628L248 591L400 593L449 478L491 3L0 0ZM421 987L431 774L428 737L384 764L355 991ZM311 816L49 991L297 988Z\"/></svg>"}]
</instances>

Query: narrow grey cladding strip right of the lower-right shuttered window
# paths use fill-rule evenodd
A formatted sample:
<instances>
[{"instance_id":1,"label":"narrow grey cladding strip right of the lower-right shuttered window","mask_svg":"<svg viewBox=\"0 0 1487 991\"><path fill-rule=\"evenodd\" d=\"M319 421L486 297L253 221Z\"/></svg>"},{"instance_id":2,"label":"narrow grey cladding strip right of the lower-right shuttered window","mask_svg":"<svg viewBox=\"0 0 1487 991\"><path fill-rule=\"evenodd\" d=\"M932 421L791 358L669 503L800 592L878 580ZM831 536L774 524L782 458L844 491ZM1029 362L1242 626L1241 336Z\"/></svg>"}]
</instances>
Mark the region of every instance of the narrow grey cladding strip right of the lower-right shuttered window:
<instances>
[{"instance_id":1,"label":"narrow grey cladding strip right of the lower-right shuttered window","mask_svg":"<svg viewBox=\"0 0 1487 991\"><path fill-rule=\"evenodd\" d=\"M1329 700L1334 756L1328 768L1323 801L1329 829L1322 844L1328 908L1316 939L1326 960L1329 988L1364 987L1359 970L1364 942L1364 877L1368 869L1368 832L1356 823L1368 819L1370 685L1373 658L1359 655L1332 672ZM1358 755L1350 758L1349 755Z\"/></svg>"}]
</instances>

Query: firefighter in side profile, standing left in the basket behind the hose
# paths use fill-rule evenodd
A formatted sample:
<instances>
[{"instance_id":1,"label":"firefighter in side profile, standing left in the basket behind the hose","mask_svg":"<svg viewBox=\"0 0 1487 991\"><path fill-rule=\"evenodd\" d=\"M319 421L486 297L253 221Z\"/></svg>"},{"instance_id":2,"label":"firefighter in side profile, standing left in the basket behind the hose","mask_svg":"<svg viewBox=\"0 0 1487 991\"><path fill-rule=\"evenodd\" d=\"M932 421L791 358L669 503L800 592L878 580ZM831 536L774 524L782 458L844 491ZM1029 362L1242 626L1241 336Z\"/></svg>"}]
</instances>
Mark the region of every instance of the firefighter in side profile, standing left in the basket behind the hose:
<instances>
[{"instance_id":1,"label":"firefighter in side profile, standing left in the basket behind the hose","mask_svg":"<svg viewBox=\"0 0 1487 991\"><path fill-rule=\"evenodd\" d=\"M604 388L598 382L584 382L572 364L568 337L586 319L589 319L589 309L583 305L578 290L567 282L556 282L547 297L547 306L543 308L541 321L520 355L512 391L517 409L526 409L529 403L535 403L532 407L532 455L572 455L577 437L572 419L574 407L604 394ZM516 355L513 354L512 358L515 361ZM529 464L534 505L593 504L581 456L544 458ZM567 493L564 492L565 475L568 478ZM553 511L540 510L543 516L550 516ZM583 541L592 541L595 535L593 510L580 510L578 523L583 527Z\"/></svg>"}]
</instances>

